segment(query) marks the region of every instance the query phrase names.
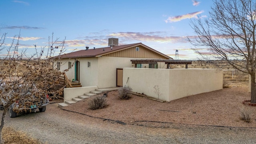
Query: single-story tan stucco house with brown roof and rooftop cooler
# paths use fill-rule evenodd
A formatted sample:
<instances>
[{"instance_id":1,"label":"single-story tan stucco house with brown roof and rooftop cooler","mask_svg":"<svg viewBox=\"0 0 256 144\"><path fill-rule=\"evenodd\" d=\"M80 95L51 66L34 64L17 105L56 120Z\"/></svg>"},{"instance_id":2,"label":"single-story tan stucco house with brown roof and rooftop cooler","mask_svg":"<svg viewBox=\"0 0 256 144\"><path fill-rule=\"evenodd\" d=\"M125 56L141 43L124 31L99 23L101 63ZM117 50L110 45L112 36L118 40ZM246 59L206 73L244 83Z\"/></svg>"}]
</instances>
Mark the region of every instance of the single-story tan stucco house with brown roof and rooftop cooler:
<instances>
[{"instance_id":1,"label":"single-story tan stucco house with brown roof and rooftop cooler","mask_svg":"<svg viewBox=\"0 0 256 144\"><path fill-rule=\"evenodd\" d=\"M109 38L108 47L89 48L60 56L58 70L66 72L70 81L85 86L108 88L123 85L122 68L165 68L165 62L134 64L131 60L172 60L169 56L142 43L118 45L117 38Z\"/></svg>"}]
</instances>

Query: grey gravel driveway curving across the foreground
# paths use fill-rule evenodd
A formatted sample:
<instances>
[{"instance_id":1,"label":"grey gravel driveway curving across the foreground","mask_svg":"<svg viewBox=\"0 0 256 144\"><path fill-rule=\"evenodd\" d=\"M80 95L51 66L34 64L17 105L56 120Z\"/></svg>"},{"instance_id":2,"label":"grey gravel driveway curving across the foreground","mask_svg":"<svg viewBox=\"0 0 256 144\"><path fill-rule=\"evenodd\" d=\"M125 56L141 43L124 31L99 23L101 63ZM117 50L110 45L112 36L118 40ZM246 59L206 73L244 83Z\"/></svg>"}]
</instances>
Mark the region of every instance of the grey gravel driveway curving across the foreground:
<instances>
[{"instance_id":1,"label":"grey gravel driveway curving across the foreground","mask_svg":"<svg viewBox=\"0 0 256 144\"><path fill-rule=\"evenodd\" d=\"M47 106L46 112L24 114L17 118L9 118L7 114L5 126L27 132L47 144L256 143L255 128L177 124L152 128L122 125L61 110L56 103Z\"/></svg>"}]
</instances>

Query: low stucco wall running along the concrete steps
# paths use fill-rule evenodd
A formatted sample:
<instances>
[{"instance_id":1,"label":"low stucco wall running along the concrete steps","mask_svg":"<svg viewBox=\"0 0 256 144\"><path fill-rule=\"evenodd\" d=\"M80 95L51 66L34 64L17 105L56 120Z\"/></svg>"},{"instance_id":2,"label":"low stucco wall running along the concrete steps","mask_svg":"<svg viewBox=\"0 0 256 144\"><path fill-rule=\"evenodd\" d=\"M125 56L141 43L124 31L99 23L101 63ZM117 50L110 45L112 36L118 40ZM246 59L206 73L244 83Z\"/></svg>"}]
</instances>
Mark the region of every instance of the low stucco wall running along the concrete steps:
<instances>
[{"instance_id":1,"label":"low stucco wall running along the concrete steps","mask_svg":"<svg viewBox=\"0 0 256 144\"><path fill-rule=\"evenodd\" d=\"M90 93L90 91L93 91L97 88L98 88L98 86L87 86L87 87L78 87L78 88L64 88L64 102L66 100L72 100L72 98L82 96L86 93Z\"/></svg>"}]
</instances>

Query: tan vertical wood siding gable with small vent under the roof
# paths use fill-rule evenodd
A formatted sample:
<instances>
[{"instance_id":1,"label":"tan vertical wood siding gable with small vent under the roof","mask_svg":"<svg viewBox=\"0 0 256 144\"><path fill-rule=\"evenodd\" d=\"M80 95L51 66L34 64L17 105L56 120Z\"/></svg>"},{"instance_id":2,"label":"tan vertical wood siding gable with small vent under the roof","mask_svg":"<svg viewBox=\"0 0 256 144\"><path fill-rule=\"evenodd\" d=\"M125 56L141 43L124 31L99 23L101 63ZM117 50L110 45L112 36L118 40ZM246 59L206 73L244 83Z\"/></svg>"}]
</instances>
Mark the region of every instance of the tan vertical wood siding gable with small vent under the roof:
<instances>
[{"instance_id":1,"label":"tan vertical wood siding gable with small vent under the roof","mask_svg":"<svg viewBox=\"0 0 256 144\"><path fill-rule=\"evenodd\" d=\"M139 47L139 50L136 51L136 47ZM113 47L114 49L114 47ZM110 54L105 54L103 56L111 56L111 57L126 57L126 58L162 58L162 59L167 59L166 57L153 52L152 50L148 50L144 46L134 46L132 48L127 48L124 50L120 50L118 52L113 52Z\"/></svg>"}]
</instances>

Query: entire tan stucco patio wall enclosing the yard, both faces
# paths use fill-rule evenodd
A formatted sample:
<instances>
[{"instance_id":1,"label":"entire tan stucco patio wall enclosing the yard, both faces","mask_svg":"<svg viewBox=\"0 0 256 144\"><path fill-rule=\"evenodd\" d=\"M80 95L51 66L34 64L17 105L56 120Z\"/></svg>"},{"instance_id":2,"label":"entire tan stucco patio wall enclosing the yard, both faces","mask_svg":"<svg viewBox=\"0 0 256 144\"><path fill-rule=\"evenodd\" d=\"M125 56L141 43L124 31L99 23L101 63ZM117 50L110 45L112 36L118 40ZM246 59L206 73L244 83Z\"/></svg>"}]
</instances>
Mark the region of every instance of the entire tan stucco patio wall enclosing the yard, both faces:
<instances>
[{"instance_id":1,"label":"entire tan stucco patio wall enclosing the yard, both faces","mask_svg":"<svg viewBox=\"0 0 256 144\"><path fill-rule=\"evenodd\" d=\"M158 86L159 99L171 101L220 90L223 84L222 76L222 70L219 69L124 68L123 86L130 86L133 92L154 98L158 98L158 94L154 92L154 86Z\"/></svg>"}]
</instances>

